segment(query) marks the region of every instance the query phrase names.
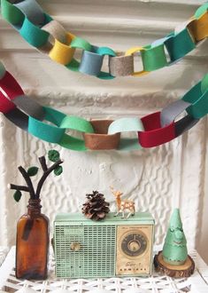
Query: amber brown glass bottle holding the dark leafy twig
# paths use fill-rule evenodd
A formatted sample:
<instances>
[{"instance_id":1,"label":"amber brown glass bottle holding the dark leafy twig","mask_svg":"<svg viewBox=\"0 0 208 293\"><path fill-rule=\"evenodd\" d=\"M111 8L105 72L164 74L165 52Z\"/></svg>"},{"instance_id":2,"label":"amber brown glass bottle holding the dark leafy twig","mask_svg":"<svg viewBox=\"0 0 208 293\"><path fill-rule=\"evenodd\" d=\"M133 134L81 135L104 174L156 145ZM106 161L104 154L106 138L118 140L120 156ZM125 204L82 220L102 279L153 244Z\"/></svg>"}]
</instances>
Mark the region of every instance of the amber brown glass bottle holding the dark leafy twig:
<instances>
[{"instance_id":1,"label":"amber brown glass bottle holding the dark leafy twig","mask_svg":"<svg viewBox=\"0 0 208 293\"><path fill-rule=\"evenodd\" d=\"M41 213L41 200L29 200L27 214L19 218L16 238L16 277L47 278L49 218Z\"/></svg>"}]
</instances>

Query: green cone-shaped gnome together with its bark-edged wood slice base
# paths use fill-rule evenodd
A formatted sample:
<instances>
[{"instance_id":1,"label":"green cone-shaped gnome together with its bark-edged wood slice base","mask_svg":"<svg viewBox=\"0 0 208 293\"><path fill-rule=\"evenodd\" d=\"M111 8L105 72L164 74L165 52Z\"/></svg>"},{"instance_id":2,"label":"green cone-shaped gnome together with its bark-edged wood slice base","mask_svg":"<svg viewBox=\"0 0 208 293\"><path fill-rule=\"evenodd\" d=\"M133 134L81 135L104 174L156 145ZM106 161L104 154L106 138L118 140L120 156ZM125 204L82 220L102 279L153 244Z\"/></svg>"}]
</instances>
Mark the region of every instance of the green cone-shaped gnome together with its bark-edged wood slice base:
<instances>
[{"instance_id":1,"label":"green cone-shaped gnome together with its bark-edged wood slice base","mask_svg":"<svg viewBox=\"0 0 208 293\"><path fill-rule=\"evenodd\" d=\"M194 273L195 264L188 255L179 209L173 210L163 250L154 257L154 265L158 272L174 278L185 278Z\"/></svg>"}]
</instances>

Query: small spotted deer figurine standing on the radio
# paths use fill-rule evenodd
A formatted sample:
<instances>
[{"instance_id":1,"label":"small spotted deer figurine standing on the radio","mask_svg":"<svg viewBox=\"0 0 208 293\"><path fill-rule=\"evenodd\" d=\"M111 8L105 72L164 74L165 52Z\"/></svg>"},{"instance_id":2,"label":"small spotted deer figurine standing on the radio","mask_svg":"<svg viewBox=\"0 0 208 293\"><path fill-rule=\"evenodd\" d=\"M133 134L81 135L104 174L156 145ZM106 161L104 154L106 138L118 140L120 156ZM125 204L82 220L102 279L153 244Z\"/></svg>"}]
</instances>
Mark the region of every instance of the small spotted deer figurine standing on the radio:
<instances>
[{"instance_id":1,"label":"small spotted deer figurine standing on the radio","mask_svg":"<svg viewBox=\"0 0 208 293\"><path fill-rule=\"evenodd\" d=\"M125 210L129 210L127 218L129 218L131 215L134 216L135 215L135 202L131 201L131 200L121 200L120 196L122 195L122 193L118 190L114 190L114 188L112 186L110 186L112 194L115 196L116 198L116 205L117 205L117 213L114 215L114 217L117 217L119 215L119 213L122 213L122 218L124 217L124 212Z\"/></svg>"}]
</instances>

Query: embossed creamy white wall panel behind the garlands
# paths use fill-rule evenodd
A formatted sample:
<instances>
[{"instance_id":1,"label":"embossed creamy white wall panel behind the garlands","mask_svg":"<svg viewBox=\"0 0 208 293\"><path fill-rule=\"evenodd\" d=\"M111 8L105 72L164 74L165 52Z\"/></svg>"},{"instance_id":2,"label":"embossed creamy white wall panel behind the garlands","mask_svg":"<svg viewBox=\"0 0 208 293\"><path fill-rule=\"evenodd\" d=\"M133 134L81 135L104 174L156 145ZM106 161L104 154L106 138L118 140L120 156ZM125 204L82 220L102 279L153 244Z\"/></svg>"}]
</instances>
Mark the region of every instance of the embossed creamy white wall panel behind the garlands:
<instances>
[{"instance_id":1,"label":"embossed creamy white wall panel behind the garlands","mask_svg":"<svg viewBox=\"0 0 208 293\"><path fill-rule=\"evenodd\" d=\"M40 3L65 28L87 38L91 44L125 51L165 36L204 1L42 0ZM143 116L158 111L181 98L208 71L205 42L173 67L140 78L101 81L69 72L52 62L26 44L3 20L0 32L1 59L28 95L44 105L86 118ZM189 247L199 249L208 262L206 131L204 118L191 131L165 146L131 153L77 153L56 147L65 159L65 172L62 178L51 178L46 184L42 210L51 221L59 210L79 210L85 194L92 189L104 192L112 202L109 185L113 185L135 199L138 210L150 210L154 215L157 243L164 239L171 210L180 207ZM0 242L11 245L16 219L24 212L27 201L15 203L6 186L21 180L17 172L19 164L35 164L38 155L54 146L19 131L3 116L0 136Z\"/></svg>"}]
</instances>

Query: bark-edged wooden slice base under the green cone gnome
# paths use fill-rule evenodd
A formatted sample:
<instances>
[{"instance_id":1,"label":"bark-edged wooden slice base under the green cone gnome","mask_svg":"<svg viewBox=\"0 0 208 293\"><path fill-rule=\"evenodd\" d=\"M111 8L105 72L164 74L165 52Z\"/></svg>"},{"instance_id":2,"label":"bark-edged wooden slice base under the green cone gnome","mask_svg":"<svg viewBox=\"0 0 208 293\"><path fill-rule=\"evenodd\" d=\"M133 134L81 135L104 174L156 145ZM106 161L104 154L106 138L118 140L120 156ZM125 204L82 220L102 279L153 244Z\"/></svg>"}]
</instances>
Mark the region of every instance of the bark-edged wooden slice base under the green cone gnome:
<instances>
[{"instance_id":1,"label":"bark-edged wooden slice base under the green cone gnome","mask_svg":"<svg viewBox=\"0 0 208 293\"><path fill-rule=\"evenodd\" d=\"M187 257L183 265L170 265L165 262L162 256L162 251L154 257L154 265L157 272L165 273L173 278L187 278L194 273L195 263L191 257Z\"/></svg>"}]
</instances>

